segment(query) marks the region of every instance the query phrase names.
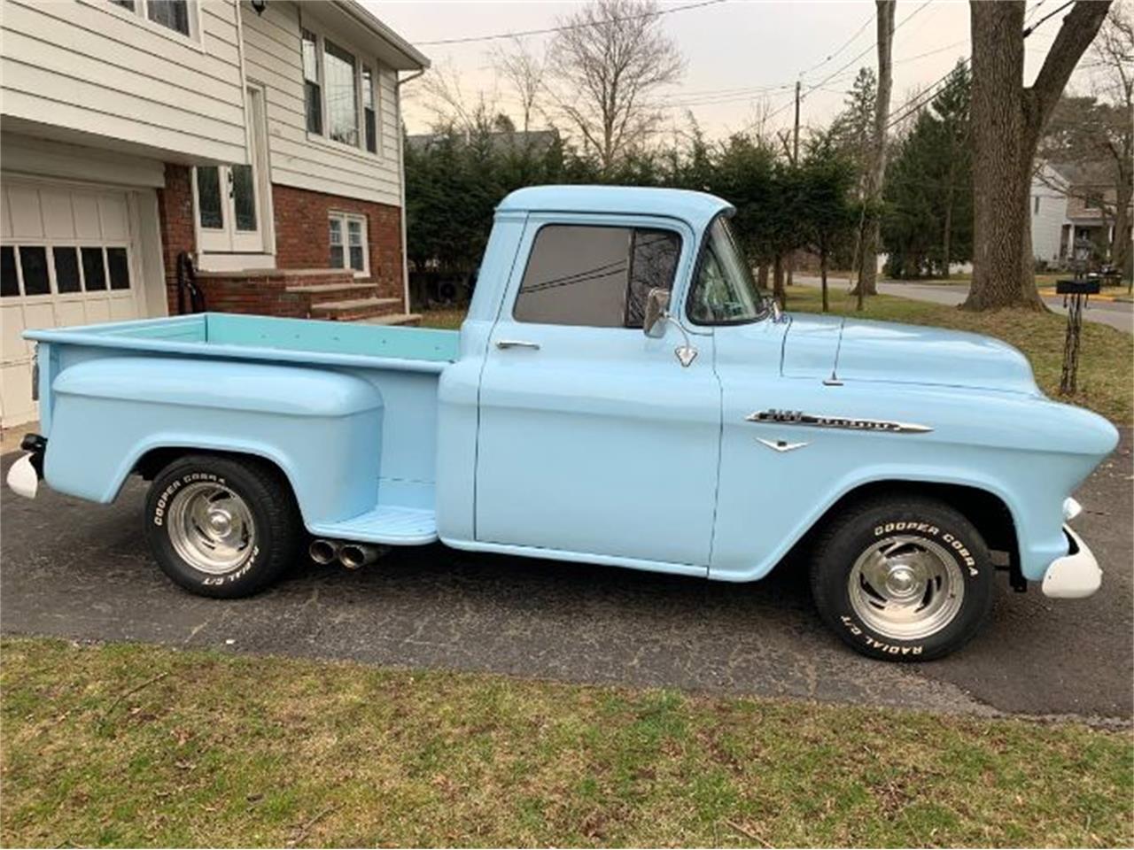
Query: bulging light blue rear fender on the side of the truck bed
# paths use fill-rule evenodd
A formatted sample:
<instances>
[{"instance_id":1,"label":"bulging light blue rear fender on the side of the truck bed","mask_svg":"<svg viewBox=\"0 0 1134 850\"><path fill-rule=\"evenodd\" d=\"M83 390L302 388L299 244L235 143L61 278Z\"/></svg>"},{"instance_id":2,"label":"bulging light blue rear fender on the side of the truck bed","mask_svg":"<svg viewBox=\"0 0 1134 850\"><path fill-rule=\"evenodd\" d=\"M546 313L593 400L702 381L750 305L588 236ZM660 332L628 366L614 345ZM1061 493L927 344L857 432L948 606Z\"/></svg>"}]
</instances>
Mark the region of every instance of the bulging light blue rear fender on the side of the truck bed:
<instances>
[{"instance_id":1,"label":"bulging light blue rear fender on the side of the truck bed","mask_svg":"<svg viewBox=\"0 0 1134 850\"><path fill-rule=\"evenodd\" d=\"M62 493L111 502L154 449L253 454L287 476L306 525L376 500L382 399L332 369L161 357L76 364L52 384L44 462Z\"/></svg>"}]
</instances>

